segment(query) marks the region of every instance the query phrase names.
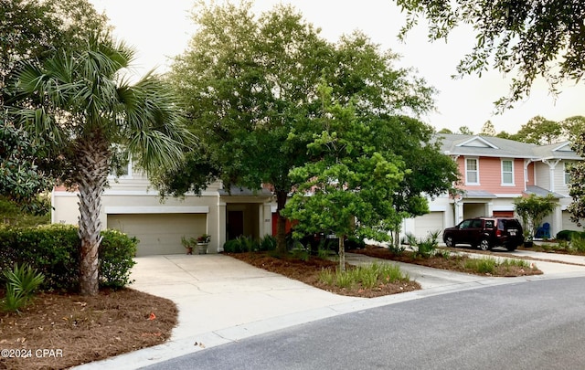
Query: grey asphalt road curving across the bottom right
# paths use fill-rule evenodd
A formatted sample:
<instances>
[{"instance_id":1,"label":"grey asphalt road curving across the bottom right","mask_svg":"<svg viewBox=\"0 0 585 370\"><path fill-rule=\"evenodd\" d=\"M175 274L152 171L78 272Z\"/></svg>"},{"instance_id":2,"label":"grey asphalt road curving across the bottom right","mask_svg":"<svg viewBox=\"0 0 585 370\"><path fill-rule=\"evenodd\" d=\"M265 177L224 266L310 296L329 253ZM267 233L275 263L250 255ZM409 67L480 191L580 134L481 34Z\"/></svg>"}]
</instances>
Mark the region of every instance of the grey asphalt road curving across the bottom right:
<instances>
[{"instance_id":1,"label":"grey asphalt road curving across the bottom right","mask_svg":"<svg viewBox=\"0 0 585 370\"><path fill-rule=\"evenodd\" d=\"M585 278L405 301L147 368L585 369Z\"/></svg>"}]
</instances>

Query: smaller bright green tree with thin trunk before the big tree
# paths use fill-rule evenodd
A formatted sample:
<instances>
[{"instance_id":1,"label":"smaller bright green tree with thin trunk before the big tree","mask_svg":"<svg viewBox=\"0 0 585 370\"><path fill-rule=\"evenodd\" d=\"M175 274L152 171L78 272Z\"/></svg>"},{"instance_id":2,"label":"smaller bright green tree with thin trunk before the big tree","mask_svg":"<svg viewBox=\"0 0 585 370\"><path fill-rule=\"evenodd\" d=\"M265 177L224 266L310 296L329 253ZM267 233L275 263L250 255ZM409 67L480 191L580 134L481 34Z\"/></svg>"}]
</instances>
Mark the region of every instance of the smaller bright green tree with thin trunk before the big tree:
<instances>
[{"instance_id":1,"label":"smaller bright green tree with thin trunk before the big tree","mask_svg":"<svg viewBox=\"0 0 585 370\"><path fill-rule=\"evenodd\" d=\"M405 172L398 155L374 142L378 132L360 122L350 100L331 100L322 86L322 132L307 145L314 158L291 170L294 195L283 214L295 220L295 233L333 231L339 237L339 267L345 270L344 239L360 234L388 239L398 217L393 195Z\"/></svg>"}]
</instances>

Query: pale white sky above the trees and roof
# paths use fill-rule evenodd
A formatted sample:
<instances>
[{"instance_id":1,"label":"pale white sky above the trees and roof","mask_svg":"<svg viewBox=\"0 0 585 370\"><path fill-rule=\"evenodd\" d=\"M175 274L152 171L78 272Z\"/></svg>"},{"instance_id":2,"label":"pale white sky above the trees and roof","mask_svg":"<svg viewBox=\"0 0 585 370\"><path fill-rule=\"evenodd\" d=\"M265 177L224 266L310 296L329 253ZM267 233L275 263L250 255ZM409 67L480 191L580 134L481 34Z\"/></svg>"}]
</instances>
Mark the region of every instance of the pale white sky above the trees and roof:
<instances>
[{"instance_id":1,"label":"pale white sky above the trees and roof","mask_svg":"<svg viewBox=\"0 0 585 370\"><path fill-rule=\"evenodd\" d=\"M159 73L168 70L172 58L185 51L197 31L190 16L195 0L90 0L90 3L110 18L115 37L136 49L134 67L140 75L150 69ZM321 28L323 37L333 42L359 29L382 50L399 53L397 67L416 69L417 76L439 91L435 96L437 111L420 117L437 130L447 128L457 132L467 126L479 133L484 122L491 121L496 132L515 133L537 115L552 121L585 116L585 83L565 83L555 99L542 80L535 82L530 96L517 102L515 109L495 114L494 101L507 95L514 76L490 71L481 79L471 75L452 79L458 61L473 48L471 30L456 29L448 42L431 43L427 28L418 26L401 42L397 35L406 15L392 0L256 0L253 3L258 13L276 4L291 4L305 20Z\"/></svg>"}]
</instances>

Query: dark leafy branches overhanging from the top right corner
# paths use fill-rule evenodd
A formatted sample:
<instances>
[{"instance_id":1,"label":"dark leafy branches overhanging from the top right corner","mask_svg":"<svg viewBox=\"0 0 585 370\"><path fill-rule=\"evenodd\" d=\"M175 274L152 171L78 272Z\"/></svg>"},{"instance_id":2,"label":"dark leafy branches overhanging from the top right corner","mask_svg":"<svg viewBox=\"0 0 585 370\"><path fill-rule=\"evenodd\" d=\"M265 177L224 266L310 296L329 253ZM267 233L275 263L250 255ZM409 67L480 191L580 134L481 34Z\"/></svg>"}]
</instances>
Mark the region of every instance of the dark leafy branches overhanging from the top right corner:
<instances>
[{"instance_id":1,"label":"dark leafy branches overhanging from the top right corner","mask_svg":"<svg viewBox=\"0 0 585 370\"><path fill-rule=\"evenodd\" d=\"M457 66L460 76L494 68L513 73L510 95L498 101L507 108L529 95L537 77L552 92L564 80L580 81L585 70L585 3L582 0L396 0L407 12L400 36L419 22L429 22L429 38L449 36L453 28L471 26L475 46Z\"/></svg>"}]
</instances>

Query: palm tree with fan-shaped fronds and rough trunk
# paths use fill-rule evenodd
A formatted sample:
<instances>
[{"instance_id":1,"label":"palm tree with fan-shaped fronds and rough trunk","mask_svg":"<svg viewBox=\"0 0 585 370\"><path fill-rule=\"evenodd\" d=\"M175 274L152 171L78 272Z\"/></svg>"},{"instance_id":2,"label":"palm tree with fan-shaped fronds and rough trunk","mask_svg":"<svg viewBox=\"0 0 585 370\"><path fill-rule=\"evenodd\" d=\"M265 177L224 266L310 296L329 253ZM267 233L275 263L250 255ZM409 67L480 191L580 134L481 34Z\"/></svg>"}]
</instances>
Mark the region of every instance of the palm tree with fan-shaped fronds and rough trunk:
<instances>
[{"instance_id":1,"label":"palm tree with fan-shaped fronds and rough trunk","mask_svg":"<svg viewBox=\"0 0 585 370\"><path fill-rule=\"evenodd\" d=\"M123 77L133 49L111 35L89 37L87 48L61 51L42 65L26 64L17 88L28 97L18 111L28 132L54 143L71 164L69 184L79 190L80 292L99 292L101 194L114 145L133 153L147 174L176 165L191 140L175 95L153 73L132 84Z\"/></svg>"}]
</instances>

